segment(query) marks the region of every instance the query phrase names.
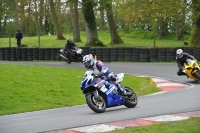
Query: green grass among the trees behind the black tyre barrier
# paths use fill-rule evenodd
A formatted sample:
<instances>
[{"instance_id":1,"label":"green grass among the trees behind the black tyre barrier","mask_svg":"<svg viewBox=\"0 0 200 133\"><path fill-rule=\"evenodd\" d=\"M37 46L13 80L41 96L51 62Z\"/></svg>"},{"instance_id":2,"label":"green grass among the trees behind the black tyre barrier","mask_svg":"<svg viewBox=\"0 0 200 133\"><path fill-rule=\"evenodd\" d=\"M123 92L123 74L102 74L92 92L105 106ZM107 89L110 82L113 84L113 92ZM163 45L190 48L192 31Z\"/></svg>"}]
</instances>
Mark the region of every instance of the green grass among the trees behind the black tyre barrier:
<instances>
[{"instance_id":1,"label":"green grass among the trees behind the black tyre barrier","mask_svg":"<svg viewBox=\"0 0 200 133\"><path fill-rule=\"evenodd\" d=\"M154 40L152 38L152 32L147 31L132 31L129 34L125 34L119 31L119 35L121 39L124 41L123 44L115 44L113 47L154 47ZM63 34L65 38L73 39L72 33ZM111 38L109 31L98 31L99 39L104 43L106 47L112 47L110 45ZM188 40L189 36L185 36L186 40ZM86 33L84 31L81 32L81 42L77 42L76 44L79 47L84 47L86 44ZM40 47L42 48L60 48L63 47L66 43L66 40L56 40L55 35L44 35L40 37ZM38 47L38 37L24 37L22 39L22 44L27 44L28 47ZM14 37L11 38L11 47L16 47L16 39ZM9 47L9 38L0 38L0 47ZM175 38L170 39L157 39L156 47L184 47L183 40L176 40Z\"/></svg>"}]
</instances>

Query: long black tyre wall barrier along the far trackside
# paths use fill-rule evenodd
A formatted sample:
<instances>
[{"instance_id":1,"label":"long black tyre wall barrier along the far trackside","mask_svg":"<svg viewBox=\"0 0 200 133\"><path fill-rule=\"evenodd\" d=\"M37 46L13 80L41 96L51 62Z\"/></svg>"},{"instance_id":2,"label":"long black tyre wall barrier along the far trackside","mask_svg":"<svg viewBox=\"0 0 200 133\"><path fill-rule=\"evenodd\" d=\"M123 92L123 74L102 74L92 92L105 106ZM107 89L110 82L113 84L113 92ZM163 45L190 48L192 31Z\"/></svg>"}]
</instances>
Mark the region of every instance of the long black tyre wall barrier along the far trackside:
<instances>
[{"instance_id":1,"label":"long black tyre wall barrier along the far trackside","mask_svg":"<svg viewBox=\"0 0 200 133\"><path fill-rule=\"evenodd\" d=\"M169 62L175 61L178 48L90 48L81 47L83 55L92 54L103 62ZM61 48L0 48L0 60L32 61L32 60L63 60ZM184 52L200 60L200 47L183 47Z\"/></svg>"}]
</instances>

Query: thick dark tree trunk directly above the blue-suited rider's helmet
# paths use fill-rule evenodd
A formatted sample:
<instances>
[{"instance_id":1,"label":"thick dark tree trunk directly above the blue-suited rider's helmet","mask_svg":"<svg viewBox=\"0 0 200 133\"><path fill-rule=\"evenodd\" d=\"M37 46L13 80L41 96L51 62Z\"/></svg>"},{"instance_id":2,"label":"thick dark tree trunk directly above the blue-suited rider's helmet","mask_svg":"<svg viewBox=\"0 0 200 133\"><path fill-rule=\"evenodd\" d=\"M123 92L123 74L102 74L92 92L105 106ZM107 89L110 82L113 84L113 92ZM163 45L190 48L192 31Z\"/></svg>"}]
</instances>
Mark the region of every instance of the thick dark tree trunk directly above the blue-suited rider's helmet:
<instances>
[{"instance_id":1,"label":"thick dark tree trunk directly above the blue-suited rider's helmet","mask_svg":"<svg viewBox=\"0 0 200 133\"><path fill-rule=\"evenodd\" d=\"M103 43L98 38L93 6L94 0L82 0L82 11L87 35L86 46L103 46Z\"/></svg>"}]
</instances>

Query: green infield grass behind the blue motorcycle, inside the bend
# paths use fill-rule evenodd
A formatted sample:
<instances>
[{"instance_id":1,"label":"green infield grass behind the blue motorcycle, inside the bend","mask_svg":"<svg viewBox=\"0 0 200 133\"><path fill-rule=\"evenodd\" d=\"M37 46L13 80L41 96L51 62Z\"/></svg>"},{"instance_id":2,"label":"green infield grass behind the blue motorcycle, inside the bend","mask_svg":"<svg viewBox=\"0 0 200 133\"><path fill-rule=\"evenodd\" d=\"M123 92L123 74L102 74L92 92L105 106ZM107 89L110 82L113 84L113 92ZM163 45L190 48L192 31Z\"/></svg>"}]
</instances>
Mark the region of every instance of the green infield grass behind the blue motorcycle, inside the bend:
<instances>
[{"instance_id":1,"label":"green infield grass behind the blue motorcycle, inside the bend","mask_svg":"<svg viewBox=\"0 0 200 133\"><path fill-rule=\"evenodd\" d=\"M0 65L0 115L85 104L80 89L86 70L38 65ZM160 91L149 78L125 75L138 96Z\"/></svg>"}]
</instances>

